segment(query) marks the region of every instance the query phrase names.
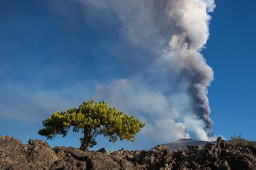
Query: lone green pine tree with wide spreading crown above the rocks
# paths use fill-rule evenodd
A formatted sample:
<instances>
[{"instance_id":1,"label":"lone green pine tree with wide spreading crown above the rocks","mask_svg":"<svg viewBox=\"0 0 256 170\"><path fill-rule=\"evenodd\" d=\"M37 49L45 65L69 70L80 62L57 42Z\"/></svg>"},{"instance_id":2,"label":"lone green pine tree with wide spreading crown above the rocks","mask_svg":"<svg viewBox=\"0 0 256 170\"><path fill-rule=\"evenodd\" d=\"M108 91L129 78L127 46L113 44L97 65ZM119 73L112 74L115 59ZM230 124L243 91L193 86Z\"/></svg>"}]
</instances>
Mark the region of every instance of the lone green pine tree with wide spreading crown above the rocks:
<instances>
[{"instance_id":1,"label":"lone green pine tree with wide spreading crown above the rocks","mask_svg":"<svg viewBox=\"0 0 256 170\"><path fill-rule=\"evenodd\" d=\"M65 137L69 128L73 127L73 132L82 131L85 134L80 138L81 143L89 143L90 147L93 147L96 144L95 137L99 134L108 138L109 142L117 142L118 138L133 142L145 123L133 115L109 107L106 101L90 100L84 101L78 108L53 113L43 121L43 126L45 128L40 129L38 133L48 139L53 139L57 134Z\"/></svg>"}]
</instances>

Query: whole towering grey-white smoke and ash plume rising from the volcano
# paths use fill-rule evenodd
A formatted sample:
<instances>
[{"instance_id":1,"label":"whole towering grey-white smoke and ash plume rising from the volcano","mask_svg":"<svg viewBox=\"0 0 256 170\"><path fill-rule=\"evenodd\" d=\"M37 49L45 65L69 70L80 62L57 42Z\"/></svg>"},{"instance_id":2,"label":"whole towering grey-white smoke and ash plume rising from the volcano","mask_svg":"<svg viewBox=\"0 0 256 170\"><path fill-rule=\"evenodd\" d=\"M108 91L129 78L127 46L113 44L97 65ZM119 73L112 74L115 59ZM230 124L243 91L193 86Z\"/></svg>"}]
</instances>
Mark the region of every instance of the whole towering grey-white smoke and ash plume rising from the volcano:
<instances>
[{"instance_id":1,"label":"whole towering grey-white smoke and ash plume rising from the volcano","mask_svg":"<svg viewBox=\"0 0 256 170\"><path fill-rule=\"evenodd\" d=\"M90 9L113 11L123 35L155 55L137 75L97 86L106 99L147 122L146 134L174 140L213 137L207 98L213 71L200 51L209 36L214 0L80 0ZM122 56L120 56L122 57ZM131 64L132 65L132 64Z\"/></svg>"}]
</instances>

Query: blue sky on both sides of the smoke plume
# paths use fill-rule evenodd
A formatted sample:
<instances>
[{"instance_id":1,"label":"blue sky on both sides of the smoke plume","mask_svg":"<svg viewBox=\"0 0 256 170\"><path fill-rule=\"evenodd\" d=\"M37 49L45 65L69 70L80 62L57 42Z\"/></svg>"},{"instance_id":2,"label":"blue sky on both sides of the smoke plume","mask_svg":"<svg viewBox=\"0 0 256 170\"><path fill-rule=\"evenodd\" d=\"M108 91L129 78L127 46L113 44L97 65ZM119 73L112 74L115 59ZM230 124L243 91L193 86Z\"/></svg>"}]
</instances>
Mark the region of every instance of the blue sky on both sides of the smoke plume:
<instances>
[{"instance_id":1,"label":"blue sky on both sides of the smoke plume","mask_svg":"<svg viewBox=\"0 0 256 170\"><path fill-rule=\"evenodd\" d=\"M256 140L256 2L216 1L210 39L202 51L215 72L209 88L212 129ZM123 38L114 13L105 17L65 1L0 2L0 135L26 143L41 121L58 109L75 107L94 96L98 84L136 76L153 54ZM124 55L127 57L119 57ZM131 66L132 65L132 66ZM50 145L79 147L79 134L49 140ZM148 149L138 134L136 143L108 143L99 137L94 149ZM162 141L160 141L162 142Z\"/></svg>"}]
</instances>

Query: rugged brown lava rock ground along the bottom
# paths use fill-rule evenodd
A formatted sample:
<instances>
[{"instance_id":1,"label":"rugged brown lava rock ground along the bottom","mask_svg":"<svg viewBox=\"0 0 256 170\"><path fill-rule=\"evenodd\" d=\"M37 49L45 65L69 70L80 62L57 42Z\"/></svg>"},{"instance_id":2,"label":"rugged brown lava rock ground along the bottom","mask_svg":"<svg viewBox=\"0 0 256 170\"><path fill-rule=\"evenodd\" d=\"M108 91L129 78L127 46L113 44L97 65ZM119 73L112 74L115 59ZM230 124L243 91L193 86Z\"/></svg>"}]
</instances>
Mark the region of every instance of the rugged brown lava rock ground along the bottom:
<instances>
[{"instance_id":1,"label":"rugged brown lava rock ground along the bottom","mask_svg":"<svg viewBox=\"0 0 256 170\"><path fill-rule=\"evenodd\" d=\"M236 147L218 138L216 144L189 146L170 152L166 146L151 151L119 150L108 154L105 149L83 152L73 147L51 148L43 140L20 140L0 136L0 169L256 169L256 148L243 144Z\"/></svg>"}]
</instances>

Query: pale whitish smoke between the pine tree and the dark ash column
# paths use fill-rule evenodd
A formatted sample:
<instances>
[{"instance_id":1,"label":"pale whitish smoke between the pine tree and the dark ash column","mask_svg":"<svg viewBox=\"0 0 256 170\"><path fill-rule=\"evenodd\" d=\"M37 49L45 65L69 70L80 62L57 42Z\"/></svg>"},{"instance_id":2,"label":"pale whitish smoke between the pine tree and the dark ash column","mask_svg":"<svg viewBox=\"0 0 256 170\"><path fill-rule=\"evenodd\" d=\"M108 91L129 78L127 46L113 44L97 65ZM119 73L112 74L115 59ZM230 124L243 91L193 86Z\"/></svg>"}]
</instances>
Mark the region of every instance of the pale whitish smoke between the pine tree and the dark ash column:
<instances>
[{"instance_id":1,"label":"pale whitish smoke between the pine tree and the dark ash column","mask_svg":"<svg viewBox=\"0 0 256 170\"><path fill-rule=\"evenodd\" d=\"M178 110L171 107L175 105L174 101L185 99L185 95L173 94L172 99L168 99L161 91L153 91L142 82L121 79L109 85L97 85L95 98L108 99L108 103L132 112L146 122L142 133L151 140L169 142L171 139L189 138L185 132L186 125L174 120L179 116ZM183 101L184 105L186 102Z\"/></svg>"}]
</instances>

